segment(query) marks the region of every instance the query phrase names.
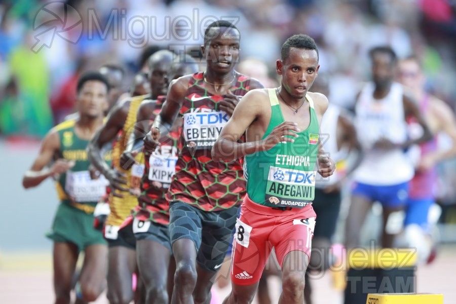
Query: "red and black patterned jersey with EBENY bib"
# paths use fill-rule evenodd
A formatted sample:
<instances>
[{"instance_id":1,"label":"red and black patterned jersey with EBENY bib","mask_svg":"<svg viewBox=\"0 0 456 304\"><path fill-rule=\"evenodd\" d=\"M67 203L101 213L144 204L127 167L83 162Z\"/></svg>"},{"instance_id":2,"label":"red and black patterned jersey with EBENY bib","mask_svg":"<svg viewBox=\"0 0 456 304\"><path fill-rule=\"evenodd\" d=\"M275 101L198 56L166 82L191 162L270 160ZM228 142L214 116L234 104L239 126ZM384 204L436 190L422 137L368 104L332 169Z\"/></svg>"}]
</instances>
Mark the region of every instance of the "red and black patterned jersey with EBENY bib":
<instances>
[{"instance_id":1,"label":"red and black patterned jersey with EBENY bib","mask_svg":"<svg viewBox=\"0 0 456 304\"><path fill-rule=\"evenodd\" d=\"M250 90L250 78L237 75L230 91L239 97ZM181 201L204 211L220 211L237 206L245 195L243 159L214 162L211 148L229 120L219 109L223 95L211 95L203 72L193 74L183 101L183 118L176 173L166 198Z\"/></svg>"}]
</instances>

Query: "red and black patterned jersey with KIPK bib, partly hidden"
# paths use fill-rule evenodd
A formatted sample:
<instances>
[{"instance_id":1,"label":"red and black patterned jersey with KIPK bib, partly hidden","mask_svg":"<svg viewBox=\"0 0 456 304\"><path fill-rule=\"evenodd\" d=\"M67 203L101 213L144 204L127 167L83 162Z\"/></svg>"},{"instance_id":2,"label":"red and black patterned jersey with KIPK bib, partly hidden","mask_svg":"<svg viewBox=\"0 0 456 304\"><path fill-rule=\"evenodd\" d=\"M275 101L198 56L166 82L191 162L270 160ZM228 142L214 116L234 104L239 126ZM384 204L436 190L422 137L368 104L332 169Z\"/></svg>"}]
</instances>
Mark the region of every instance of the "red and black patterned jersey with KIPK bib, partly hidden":
<instances>
[{"instance_id":1,"label":"red and black patterned jersey with KIPK bib, partly hidden","mask_svg":"<svg viewBox=\"0 0 456 304\"><path fill-rule=\"evenodd\" d=\"M165 97L159 97L150 117L153 122L162 108ZM141 195L134 216L139 220L150 220L163 225L169 224L169 208L165 194L171 184L177 161L177 140L181 121L178 119L168 135L160 138L161 145L154 153L144 151L144 173L141 178Z\"/></svg>"}]
</instances>

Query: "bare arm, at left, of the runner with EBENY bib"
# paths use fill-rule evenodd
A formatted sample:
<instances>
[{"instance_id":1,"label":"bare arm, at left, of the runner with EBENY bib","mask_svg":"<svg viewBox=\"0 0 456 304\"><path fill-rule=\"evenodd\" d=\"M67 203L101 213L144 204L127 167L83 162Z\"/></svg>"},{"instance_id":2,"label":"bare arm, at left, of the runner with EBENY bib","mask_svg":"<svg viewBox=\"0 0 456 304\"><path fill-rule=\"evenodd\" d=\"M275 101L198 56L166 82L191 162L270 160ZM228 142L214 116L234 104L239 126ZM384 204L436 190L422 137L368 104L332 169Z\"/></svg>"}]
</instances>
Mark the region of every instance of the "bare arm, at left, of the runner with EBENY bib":
<instances>
[{"instance_id":1,"label":"bare arm, at left, of the runner with EBENY bib","mask_svg":"<svg viewBox=\"0 0 456 304\"><path fill-rule=\"evenodd\" d=\"M162 109L150 127L150 131L144 137L144 149L154 151L160 145L160 137L165 136L171 130L179 115L191 78L192 75L185 75L170 83Z\"/></svg>"}]
</instances>

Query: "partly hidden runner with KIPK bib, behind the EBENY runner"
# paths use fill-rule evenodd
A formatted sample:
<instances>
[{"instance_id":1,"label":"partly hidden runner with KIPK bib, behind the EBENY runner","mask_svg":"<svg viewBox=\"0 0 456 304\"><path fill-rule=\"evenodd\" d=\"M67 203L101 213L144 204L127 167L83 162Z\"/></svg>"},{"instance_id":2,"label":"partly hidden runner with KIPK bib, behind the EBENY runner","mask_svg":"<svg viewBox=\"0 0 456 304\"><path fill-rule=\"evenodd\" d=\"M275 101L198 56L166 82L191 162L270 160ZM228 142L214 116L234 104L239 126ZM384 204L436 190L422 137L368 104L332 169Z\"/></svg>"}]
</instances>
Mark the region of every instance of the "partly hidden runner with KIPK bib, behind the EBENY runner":
<instances>
[{"instance_id":1,"label":"partly hidden runner with KIPK bib, behind the EBENY runner","mask_svg":"<svg viewBox=\"0 0 456 304\"><path fill-rule=\"evenodd\" d=\"M198 65L191 56L182 55L174 61L168 73L168 79L177 79L185 74L198 71ZM143 143L143 137L150 129L160 112L165 96L157 100L145 100L137 113L134 137ZM139 273L146 286L146 303L168 302L168 293L173 289L174 271L176 269L168 233L169 205L165 198L177 161L177 141L182 120L174 122L171 132L160 138L160 146L152 153L144 152L144 170L141 173L141 194L138 206L127 218L123 226L130 227L136 237L136 252ZM139 148L135 139L132 148ZM128 156L127 154L130 154ZM132 151L125 151L123 159L133 163ZM123 231L123 229L121 229ZM169 278L167 272L169 271ZM168 278L168 282L167 282ZM168 288L167 288L168 287ZM168 293L167 293L168 289Z\"/></svg>"}]
</instances>

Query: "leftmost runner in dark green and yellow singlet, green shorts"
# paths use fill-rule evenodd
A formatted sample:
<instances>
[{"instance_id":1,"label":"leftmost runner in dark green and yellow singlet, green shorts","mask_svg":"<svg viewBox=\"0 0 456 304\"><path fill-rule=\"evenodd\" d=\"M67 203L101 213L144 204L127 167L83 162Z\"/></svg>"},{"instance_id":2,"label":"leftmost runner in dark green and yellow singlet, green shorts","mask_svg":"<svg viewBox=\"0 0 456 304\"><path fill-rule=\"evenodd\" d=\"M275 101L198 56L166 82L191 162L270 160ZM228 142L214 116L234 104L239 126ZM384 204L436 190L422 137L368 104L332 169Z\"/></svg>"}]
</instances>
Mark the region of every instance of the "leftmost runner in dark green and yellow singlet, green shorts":
<instances>
[{"instance_id":1,"label":"leftmost runner in dark green and yellow singlet, green shorts","mask_svg":"<svg viewBox=\"0 0 456 304\"><path fill-rule=\"evenodd\" d=\"M91 179L86 147L103 124L109 84L99 72L88 72L77 85L79 117L49 131L40 154L22 184L35 187L48 177L58 177L61 201L48 235L54 241L54 290L56 303L69 303L78 256L84 251L79 277L84 302L95 301L105 288L106 242L93 227L95 204L105 193L104 178ZM52 160L54 164L46 168Z\"/></svg>"}]
</instances>

